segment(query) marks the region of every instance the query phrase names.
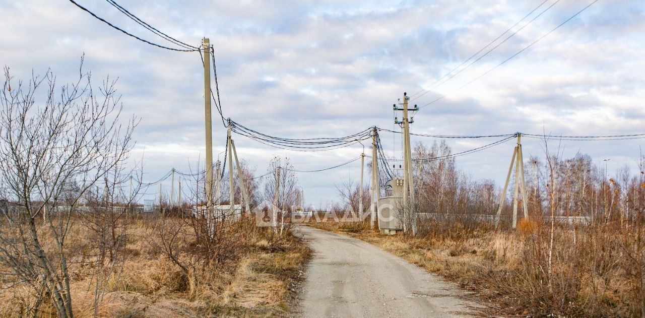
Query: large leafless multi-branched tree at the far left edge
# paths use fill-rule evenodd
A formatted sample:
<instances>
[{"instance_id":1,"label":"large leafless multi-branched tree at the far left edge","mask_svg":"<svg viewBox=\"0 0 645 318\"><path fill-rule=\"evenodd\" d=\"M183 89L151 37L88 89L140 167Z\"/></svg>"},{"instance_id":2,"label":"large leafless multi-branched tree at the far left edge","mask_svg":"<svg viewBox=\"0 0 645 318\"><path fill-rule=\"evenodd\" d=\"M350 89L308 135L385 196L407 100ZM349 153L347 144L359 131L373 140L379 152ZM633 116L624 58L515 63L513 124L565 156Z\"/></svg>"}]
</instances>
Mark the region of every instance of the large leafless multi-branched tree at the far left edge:
<instances>
[{"instance_id":1,"label":"large leafless multi-branched tree at the far left edge","mask_svg":"<svg viewBox=\"0 0 645 318\"><path fill-rule=\"evenodd\" d=\"M15 83L5 67L0 179L12 209L2 212L0 263L37 295L32 316L49 298L59 317L72 317L65 245L70 220L83 194L124 164L134 145L136 121L120 123L115 81L108 78L97 92L82 65L78 80L60 87L50 71L25 84Z\"/></svg>"}]
</instances>

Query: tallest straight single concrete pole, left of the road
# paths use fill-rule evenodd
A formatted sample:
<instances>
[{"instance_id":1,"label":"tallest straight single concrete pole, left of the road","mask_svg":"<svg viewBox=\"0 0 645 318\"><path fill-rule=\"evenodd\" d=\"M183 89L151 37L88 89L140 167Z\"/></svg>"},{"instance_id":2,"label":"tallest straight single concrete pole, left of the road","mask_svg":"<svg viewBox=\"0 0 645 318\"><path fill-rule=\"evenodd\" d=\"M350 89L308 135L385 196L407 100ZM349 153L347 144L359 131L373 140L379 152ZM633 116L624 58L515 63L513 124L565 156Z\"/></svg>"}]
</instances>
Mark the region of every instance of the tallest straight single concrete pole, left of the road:
<instances>
[{"instance_id":1,"label":"tallest straight single concrete pole, left of the road","mask_svg":"<svg viewBox=\"0 0 645 318\"><path fill-rule=\"evenodd\" d=\"M204 37L202 49L204 56L204 120L206 121L206 206L213 201L213 128L210 117L210 40Z\"/></svg>"}]
</instances>

